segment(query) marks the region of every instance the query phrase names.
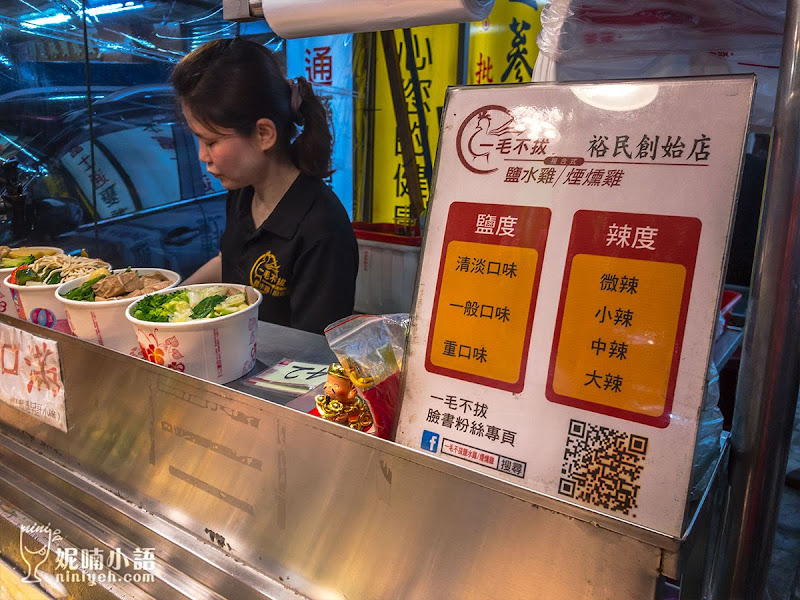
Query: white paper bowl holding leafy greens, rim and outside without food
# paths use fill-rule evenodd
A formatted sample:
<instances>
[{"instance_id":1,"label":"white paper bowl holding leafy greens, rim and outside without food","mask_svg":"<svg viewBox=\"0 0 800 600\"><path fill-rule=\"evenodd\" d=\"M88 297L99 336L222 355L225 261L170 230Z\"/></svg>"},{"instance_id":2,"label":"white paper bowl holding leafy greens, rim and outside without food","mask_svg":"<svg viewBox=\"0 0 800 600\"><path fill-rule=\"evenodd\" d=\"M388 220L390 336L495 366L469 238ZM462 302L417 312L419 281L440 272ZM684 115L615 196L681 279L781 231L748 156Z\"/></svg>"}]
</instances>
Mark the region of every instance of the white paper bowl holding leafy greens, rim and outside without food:
<instances>
[{"instance_id":1,"label":"white paper bowl holding leafy greens, rim and outside without food","mask_svg":"<svg viewBox=\"0 0 800 600\"><path fill-rule=\"evenodd\" d=\"M203 283L159 290L156 294L214 285L245 292L250 306L214 319L154 323L132 316L139 300L128 305L125 317L133 324L146 360L213 383L228 383L250 372L256 362L261 292L250 286L233 283Z\"/></svg>"}]
</instances>

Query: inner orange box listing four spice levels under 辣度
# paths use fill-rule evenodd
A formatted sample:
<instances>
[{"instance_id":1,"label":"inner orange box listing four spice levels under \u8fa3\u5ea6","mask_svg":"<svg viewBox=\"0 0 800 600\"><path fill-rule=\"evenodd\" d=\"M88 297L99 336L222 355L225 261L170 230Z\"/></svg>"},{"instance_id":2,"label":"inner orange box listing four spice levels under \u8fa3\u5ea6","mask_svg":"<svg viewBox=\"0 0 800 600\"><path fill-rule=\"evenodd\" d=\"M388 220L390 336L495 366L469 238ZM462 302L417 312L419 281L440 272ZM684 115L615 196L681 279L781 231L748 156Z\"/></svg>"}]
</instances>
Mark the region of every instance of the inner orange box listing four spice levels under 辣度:
<instances>
[{"instance_id":1,"label":"inner orange box listing four spice levels under \u8fa3\u5ea6","mask_svg":"<svg viewBox=\"0 0 800 600\"><path fill-rule=\"evenodd\" d=\"M575 256L553 390L660 416L667 402L685 280L683 265Z\"/></svg>"}]
</instances>

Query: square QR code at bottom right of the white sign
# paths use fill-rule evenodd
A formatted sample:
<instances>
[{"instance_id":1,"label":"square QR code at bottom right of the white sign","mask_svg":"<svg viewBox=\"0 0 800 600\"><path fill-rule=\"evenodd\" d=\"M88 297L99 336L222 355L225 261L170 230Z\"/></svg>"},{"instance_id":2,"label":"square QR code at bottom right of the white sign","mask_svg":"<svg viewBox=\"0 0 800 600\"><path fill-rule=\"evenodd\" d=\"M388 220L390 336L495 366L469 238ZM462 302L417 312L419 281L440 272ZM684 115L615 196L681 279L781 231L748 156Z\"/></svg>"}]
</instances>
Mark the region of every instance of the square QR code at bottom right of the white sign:
<instances>
[{"instance_id":1,"label":"square QR code at bottom right of the white sign","mask_svg":"<svg viewBox=\"0 0 800 600\"><path fill-rule=\"evenodd\" d=\"M646 456L646 437L572 419L558 493L631 515Z\"/></svg>"}]
</instances>

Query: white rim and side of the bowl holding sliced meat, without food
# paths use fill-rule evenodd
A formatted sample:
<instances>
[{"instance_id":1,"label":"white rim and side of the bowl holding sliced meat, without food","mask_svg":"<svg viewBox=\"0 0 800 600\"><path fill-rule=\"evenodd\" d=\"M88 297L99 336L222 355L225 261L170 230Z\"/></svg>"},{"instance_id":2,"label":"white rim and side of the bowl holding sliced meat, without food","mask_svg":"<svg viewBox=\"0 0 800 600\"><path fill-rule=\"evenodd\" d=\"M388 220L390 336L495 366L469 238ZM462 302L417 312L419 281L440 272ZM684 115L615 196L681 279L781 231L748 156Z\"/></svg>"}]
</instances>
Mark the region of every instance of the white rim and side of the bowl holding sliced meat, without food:
<instances>
[{"instance_id":1,"label":"white rim and side of the bowl holding sliced meat, without food","mask_svg":"<svg viewBox=\"0 0 800 600\"><path fill-rule=\"evenodd\" d=\"M115 269L112 273L124 273L126 270ZM132 270L139 275L163 274L170 281L170 284L164 289L174 288L181 280L180 275L168 269L132 268ZM138 300L139 296L101 302L69 300L62 296L62 294L83 285L90 277L91 274L78 277L62 283L56 289L56 299L64 305L72 333L83 340L95 342L118 352L127 354L132 350L138 351L136 334L125 319L125 309L129 304Z\"/></svg>"}]
</instances>

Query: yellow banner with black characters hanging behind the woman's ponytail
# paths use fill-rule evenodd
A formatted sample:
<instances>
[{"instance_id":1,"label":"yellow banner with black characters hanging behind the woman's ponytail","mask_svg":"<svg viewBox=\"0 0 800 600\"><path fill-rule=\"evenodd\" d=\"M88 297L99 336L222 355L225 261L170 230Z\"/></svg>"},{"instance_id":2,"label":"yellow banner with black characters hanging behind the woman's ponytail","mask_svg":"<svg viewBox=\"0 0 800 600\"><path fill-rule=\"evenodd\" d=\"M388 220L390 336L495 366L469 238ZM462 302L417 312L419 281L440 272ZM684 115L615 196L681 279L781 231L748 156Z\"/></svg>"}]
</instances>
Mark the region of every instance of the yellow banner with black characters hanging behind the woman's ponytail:
<instances>
[{"instance_id":1,"label":"yellow banner with black characters hanging behind the woman's ponytail","mask_svg":"<svg viewBox=\"0 0 800 600\"><path fill-rule=\"evenodd\" d=\"M432 25L411 30L412 44L407 48L403 31L394 32L403 93L408 106L409 126L417 158L423 204L430 193L426 177L426 156L432 169L439 141L439 120L447 86L455 85L458 69L458 25ZM373 144L372 221L407 224L411 211L408 183L403 168L400 140L397 135L389 77L378 38L378 68L375 83L375 135ZM409 60L413 62L409 62ZM421 107L417 106L410 65L416 65ZM424 115L427 136L422 135L420 113Z\"/></svg>"}]
</instances>

